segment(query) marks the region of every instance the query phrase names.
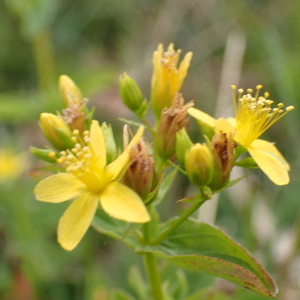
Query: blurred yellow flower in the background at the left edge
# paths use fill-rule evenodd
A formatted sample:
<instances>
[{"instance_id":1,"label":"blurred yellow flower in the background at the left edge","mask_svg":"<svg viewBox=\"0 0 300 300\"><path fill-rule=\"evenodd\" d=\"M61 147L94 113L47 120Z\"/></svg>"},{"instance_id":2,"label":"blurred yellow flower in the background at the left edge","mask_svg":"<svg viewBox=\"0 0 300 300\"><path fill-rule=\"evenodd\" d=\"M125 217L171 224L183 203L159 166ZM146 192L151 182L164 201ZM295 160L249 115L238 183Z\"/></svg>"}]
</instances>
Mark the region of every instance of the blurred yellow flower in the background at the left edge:
<instances>
[{"instance_id":1,"label":"blurred yellow flower in the background at the left edge","mask_svg":"<svg viewBox=\"0 0 300 300\"><path fill-rule=\"evenodd\" d=\"M16 179L27 168L26 154L0 149L0 182Z\"/></svg>"}]
</instances>

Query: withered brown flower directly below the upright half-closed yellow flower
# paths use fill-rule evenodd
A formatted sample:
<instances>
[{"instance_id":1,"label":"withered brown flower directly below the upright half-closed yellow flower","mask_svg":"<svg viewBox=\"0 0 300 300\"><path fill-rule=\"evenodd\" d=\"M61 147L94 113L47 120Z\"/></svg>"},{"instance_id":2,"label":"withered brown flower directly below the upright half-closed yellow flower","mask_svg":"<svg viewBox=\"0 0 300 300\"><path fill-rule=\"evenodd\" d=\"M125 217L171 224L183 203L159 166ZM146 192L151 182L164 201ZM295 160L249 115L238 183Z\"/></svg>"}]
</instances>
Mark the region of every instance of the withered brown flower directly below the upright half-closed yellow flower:
<instances>
[{"instance_id":1,"label":"withered brown flower directly below the upright half-closed yellow flower","mask_svg":"<svg viewBox=\"0 0 300 300\"><path fill-rule=\"evenodd\" d=\"M167 160L175 154L176 133L184 127L187 110L193 105L193 101L184 105L181 94L176 93L172 106L162 111L154 146L163 159Z\"/></svg>"}]
</instances>

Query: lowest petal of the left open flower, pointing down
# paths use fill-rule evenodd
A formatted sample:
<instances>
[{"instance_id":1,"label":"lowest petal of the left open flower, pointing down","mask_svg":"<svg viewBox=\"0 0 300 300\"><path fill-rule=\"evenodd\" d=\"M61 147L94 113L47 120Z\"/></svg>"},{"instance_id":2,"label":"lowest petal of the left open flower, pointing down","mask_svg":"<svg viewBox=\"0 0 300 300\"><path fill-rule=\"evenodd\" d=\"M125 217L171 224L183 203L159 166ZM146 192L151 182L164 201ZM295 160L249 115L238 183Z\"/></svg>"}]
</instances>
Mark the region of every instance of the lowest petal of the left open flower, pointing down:
<instances>
[{"instance_id":1,"label":"lowest petal of the left open flower, pointing down","mask_svg":"<svg viewBox=\"0 0 300 300\"><path fill-rule=\"evenodd\" d=\"M80 242L92 223L98 204L99 195L85 193L62 215L58 223L57 238L65 250L73 250Z\"/></svg>"}]
</instances>

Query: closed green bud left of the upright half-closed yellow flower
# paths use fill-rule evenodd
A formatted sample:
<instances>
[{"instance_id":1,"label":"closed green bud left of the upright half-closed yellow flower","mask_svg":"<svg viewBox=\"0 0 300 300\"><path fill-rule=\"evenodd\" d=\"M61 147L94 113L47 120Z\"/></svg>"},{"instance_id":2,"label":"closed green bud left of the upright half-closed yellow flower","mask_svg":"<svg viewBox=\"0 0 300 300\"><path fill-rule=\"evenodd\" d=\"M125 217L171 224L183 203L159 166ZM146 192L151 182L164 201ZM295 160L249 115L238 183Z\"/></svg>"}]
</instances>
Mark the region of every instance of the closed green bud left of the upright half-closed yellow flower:
<instances>
[{"instance_id":1,"label":"closed green bud left of the upright half-closed yellow flower","mask_svg":"<svg viewBox=\"0 0 300 300\"><path fill-rule=\"evenodd\" d=\"M119 92L124 104L133 112L137 112L143 104L143 95L137 83L124 73L120 76Z\"/></svg>"}]
</instances>

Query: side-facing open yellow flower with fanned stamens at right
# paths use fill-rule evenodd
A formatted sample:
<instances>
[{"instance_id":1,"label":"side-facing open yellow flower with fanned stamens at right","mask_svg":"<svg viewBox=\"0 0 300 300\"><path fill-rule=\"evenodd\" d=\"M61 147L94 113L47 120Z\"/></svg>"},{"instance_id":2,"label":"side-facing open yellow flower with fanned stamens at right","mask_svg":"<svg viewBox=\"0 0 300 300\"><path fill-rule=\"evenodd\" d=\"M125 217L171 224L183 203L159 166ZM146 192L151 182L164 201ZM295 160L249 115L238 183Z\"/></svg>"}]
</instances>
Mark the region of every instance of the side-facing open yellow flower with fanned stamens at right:
<instances>
[{"instance_id":1,"label":"side-facing open yellow flower with fanned stamens at right","mask_svg":"<svg viewBox=\"0 0 300 300\"><path fill-rule=\"evenodd\" d=\"M267 99L269 93L265 93L264 97L259 96L261 88L261 85L256 87L257 91L254 97L252 89L248 89L246 95L242 95L244 91L239 89L237 101L234 93L235 86L232 86L236 118L215 120L194 108L190 108L188 113L201 124L214 127L217 132L232 133L234 140L247 149L260 169L275 184L285 185L290 181L288 162L273 143L258 138L294 107L288 106L284 111L283 104L279 103L276 108L271 108L274 101Z\"/></svg>"}]
</instances>

